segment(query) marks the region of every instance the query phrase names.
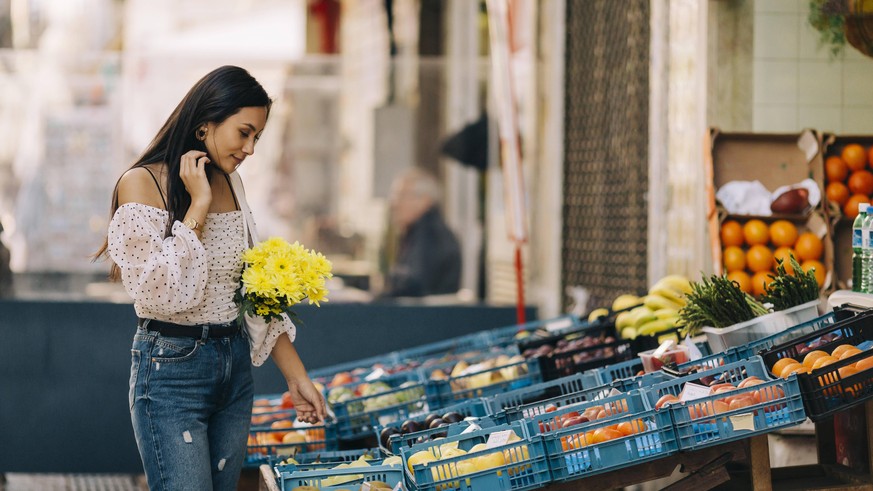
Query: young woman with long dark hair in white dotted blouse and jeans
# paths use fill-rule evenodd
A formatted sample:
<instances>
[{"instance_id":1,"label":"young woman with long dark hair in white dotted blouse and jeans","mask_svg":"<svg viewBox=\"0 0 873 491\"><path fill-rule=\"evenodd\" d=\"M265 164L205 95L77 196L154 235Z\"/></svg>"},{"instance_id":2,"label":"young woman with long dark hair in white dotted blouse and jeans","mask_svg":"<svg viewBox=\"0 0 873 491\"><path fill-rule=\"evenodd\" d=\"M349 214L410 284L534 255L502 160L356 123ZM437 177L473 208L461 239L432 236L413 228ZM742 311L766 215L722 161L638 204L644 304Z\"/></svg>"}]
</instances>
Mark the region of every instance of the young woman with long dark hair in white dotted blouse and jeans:
<instances>
[{"instance_id":1,"label":"young woman with long dark hair in white dotted blouse and jeans","mask_svg":"<svg viewBox=\"0 0 873 491\"><path fill-rule=\"evenodd\" d=\"M153 490L236 489L251 421L251 366L272 355L301 421L324 400L286 318L237 322L240 256L251 240L237 167L252 155L271 100L223 66L188 92L119 179L100 256L134 300L130 412ZM241 207L242 205L242 207Z\"/></svg>"}]
</instances>

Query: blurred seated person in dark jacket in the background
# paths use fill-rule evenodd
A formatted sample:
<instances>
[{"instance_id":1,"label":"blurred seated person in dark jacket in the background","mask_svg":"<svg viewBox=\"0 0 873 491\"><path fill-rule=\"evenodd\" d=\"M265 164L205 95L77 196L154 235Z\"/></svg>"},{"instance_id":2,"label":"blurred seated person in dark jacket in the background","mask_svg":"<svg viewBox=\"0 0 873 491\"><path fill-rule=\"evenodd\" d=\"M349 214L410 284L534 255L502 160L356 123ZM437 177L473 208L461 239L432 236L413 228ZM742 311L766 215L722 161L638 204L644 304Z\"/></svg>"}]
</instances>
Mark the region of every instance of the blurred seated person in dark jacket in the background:
<instances>
[{"instance_id":1,"label":"blurred seated person in dark jacket in the background","mask_svg":"<svg viewBox=\"0 0 873 491\"><path fill-rule=\"evenodd\" d=\"M398 235L389 260L385 297L457 293L461 249L440 213L441 189L428 172L413 168L391 189L391 226Z\"/></svg>"}]
</instances>

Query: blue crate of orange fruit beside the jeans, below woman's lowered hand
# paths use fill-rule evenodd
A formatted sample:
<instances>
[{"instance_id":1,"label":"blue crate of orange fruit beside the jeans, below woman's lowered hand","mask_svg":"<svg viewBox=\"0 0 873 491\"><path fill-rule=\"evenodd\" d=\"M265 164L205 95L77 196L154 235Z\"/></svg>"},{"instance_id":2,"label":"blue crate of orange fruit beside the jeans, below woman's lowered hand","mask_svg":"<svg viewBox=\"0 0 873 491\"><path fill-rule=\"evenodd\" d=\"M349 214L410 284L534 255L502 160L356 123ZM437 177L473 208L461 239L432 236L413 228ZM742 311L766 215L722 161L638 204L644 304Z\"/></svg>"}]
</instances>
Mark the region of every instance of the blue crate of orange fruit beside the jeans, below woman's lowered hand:
<instances>
[{"instance_id":1,"label":"blue crate of orange fruit beside the jeans, below woman's lowered hand","mask_svg":"<svg viewBox=\"0 0 873 491\"><path fill-rule=\"evenodd\" d=\"M306 440L283 443L282 437L290 432L300 433ZM261 464L272 464L300 453L333 451L338 446L337 427L332 421L297 428L273 428L271 425L252 426L249 430L246 459L243 466L246 468L258 467Z\"/></svg>"}]
</instances>

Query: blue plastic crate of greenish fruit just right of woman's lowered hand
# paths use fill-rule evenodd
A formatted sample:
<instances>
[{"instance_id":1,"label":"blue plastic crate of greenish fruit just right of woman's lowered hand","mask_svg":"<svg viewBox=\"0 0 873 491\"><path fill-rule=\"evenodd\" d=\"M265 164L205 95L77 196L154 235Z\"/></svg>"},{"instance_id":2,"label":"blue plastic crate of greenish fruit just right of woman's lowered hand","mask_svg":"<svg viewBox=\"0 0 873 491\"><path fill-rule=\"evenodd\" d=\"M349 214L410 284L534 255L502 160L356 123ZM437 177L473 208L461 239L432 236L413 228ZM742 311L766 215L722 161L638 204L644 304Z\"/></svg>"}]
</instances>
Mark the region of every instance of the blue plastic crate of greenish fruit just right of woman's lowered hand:
<instances>
[{"instance_id":1,"label":"blue plastic crate of greenish fruit just right of woman's lowered hand","mask_svg":"<svg viewBox=\"0 0 873 491\"><path fill-rule=\"evenodd\" d=\"M396 374L385 382L390 389L362 397L351 397L330 403L336 417L337 436L340 439L355 439L372 435L377 426L409 418L426 411L425 384L414 372ZM347 386L353 391L360 384ZM333 391L335 389L331 389ZM328 394L331 394L331 391ZM330 400L330 396L329 396Z\"/></svg>"}]
</instances>

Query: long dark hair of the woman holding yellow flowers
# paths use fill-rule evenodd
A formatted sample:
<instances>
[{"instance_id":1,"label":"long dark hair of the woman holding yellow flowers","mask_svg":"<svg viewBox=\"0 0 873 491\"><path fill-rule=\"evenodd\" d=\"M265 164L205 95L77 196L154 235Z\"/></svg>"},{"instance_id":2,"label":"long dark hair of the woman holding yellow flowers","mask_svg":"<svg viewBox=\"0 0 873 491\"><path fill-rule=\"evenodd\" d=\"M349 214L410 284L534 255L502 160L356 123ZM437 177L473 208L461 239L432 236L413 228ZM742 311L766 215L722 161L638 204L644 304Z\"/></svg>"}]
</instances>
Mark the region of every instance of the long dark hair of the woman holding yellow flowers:
<instances>
[{"instance_id":1,"label":"long dark hair of the woman holding yellow flowers","mask_svg":"<svg viewBox=\"0 0 873 491\"><path fill-rule=\"evenodd\" d=\"M197 130L207 124L221 124L244 107L265 107L267 115L273 101L267 92L245 69L225 65L201 78L176 106L167 122L146 148L145 152L130 167L166 163L164 186L167 190L169 220L164 231L169 236L175 220L181 220L191 206L191 195L179 177L180 159L190 150L206 152L206 145L197 139ZM215 160L210 155L210 159ZM128 169L128 170L130 170ZM118 183L112 193L112 215L118 210ZM109 240L94 255L95 259L108 257ZM118 266L112 264L110 278L119 277Z\"/></svg>"}]
</instances>

